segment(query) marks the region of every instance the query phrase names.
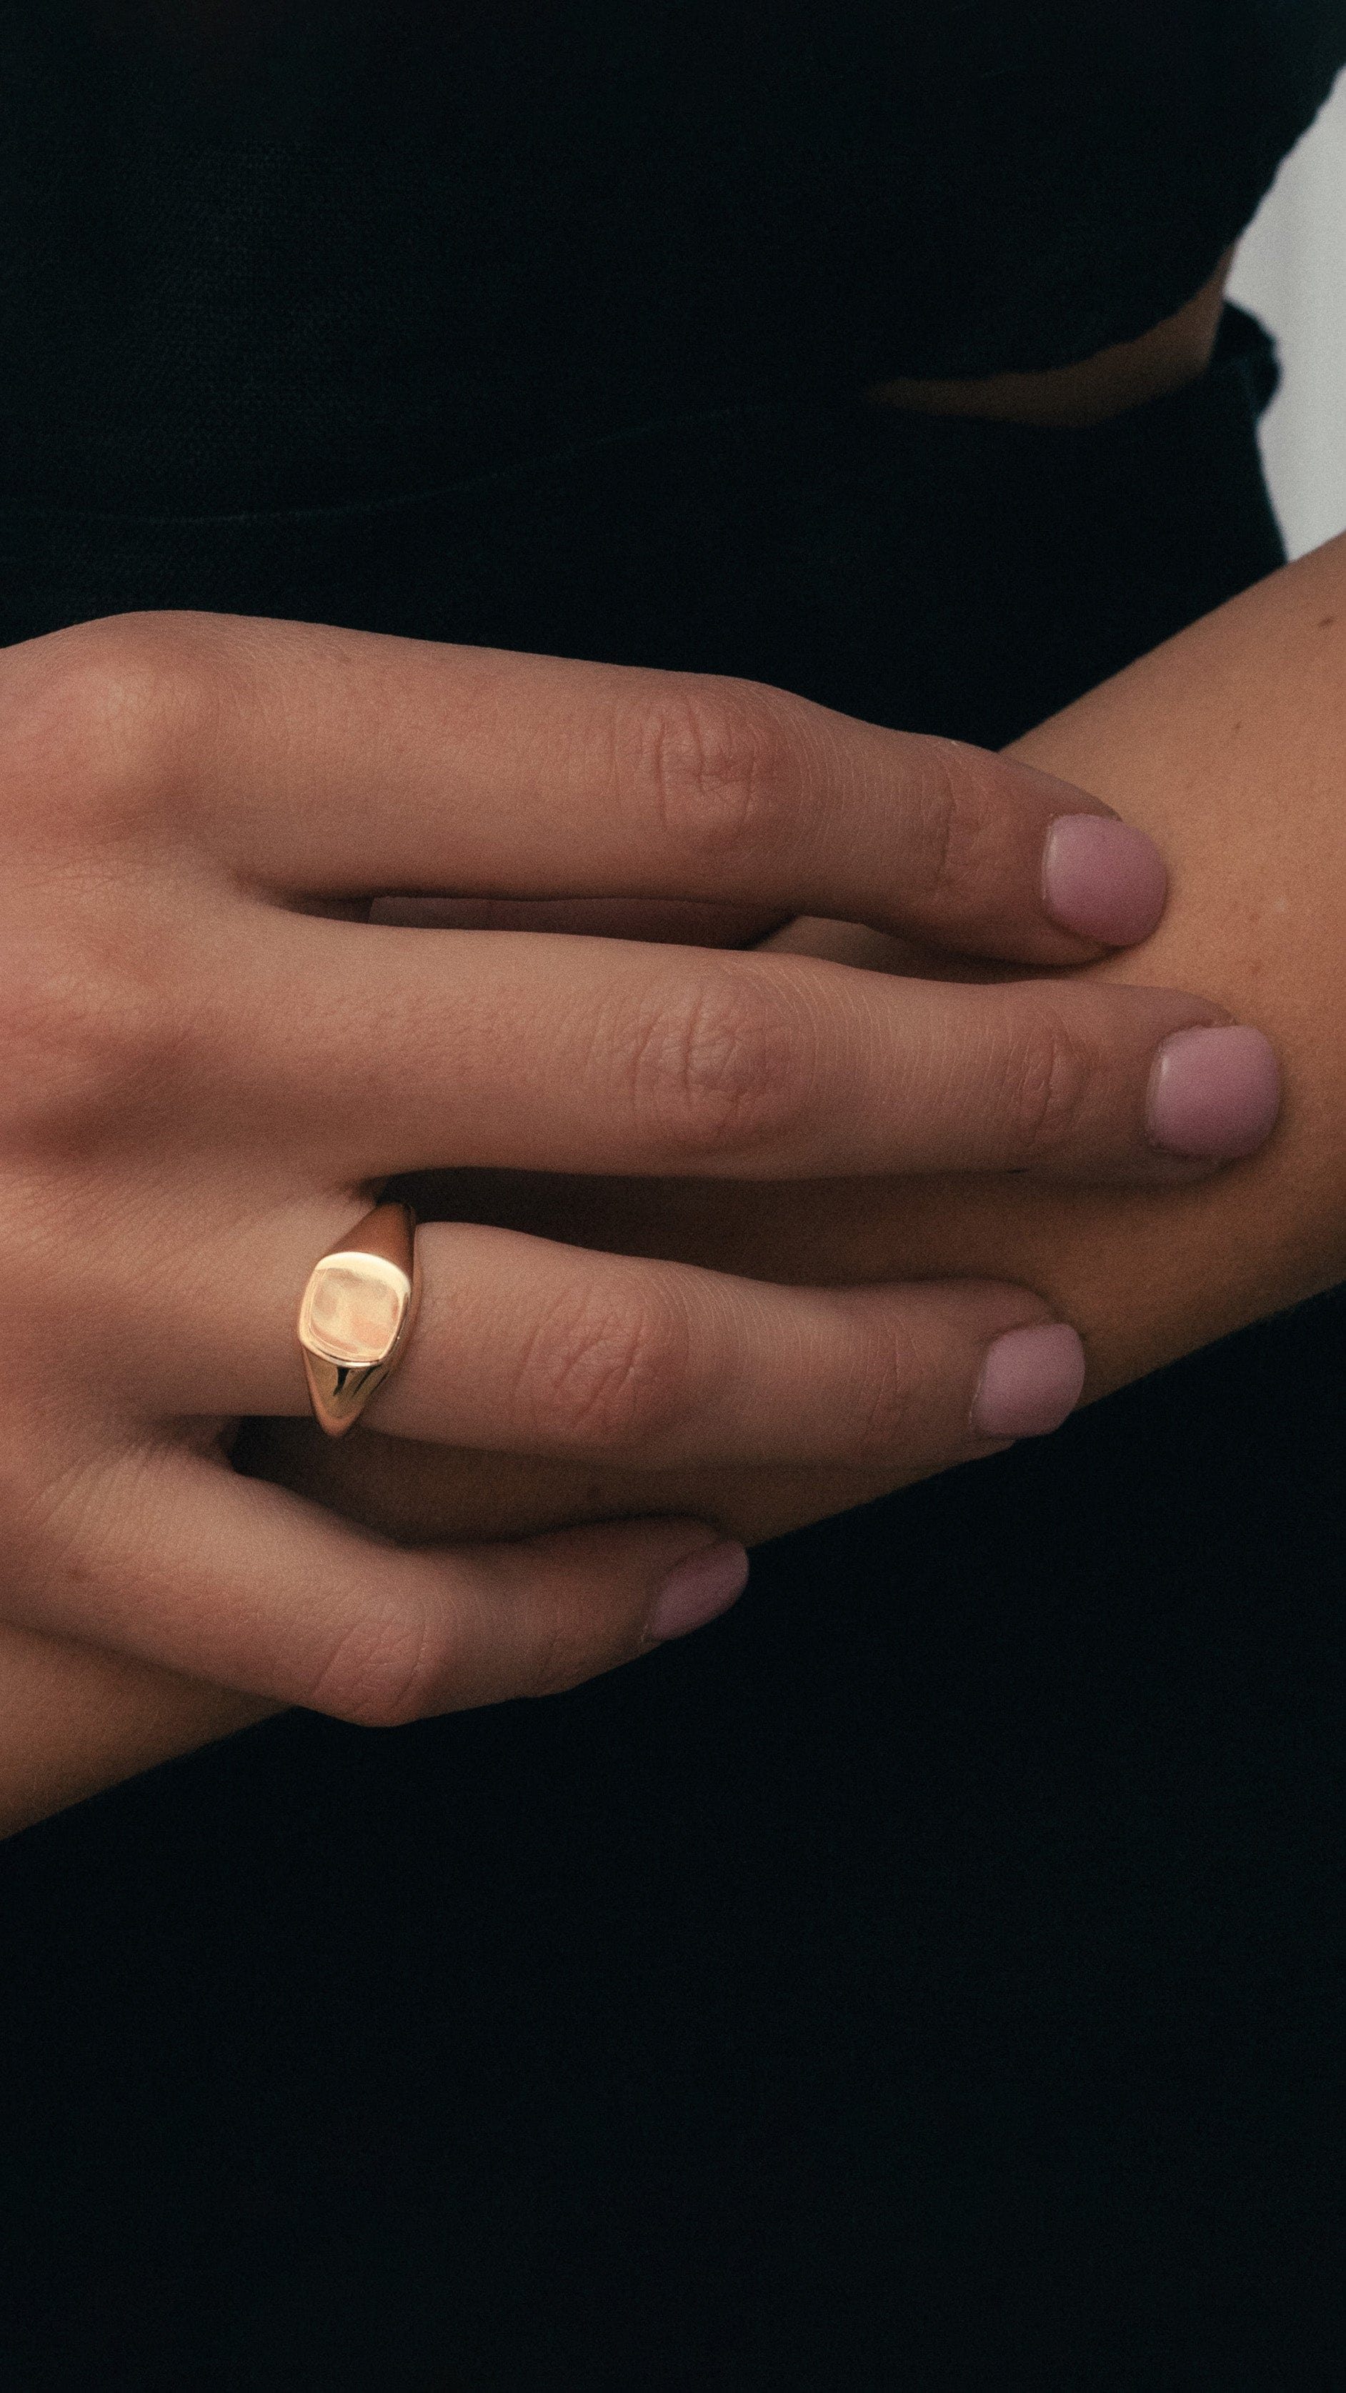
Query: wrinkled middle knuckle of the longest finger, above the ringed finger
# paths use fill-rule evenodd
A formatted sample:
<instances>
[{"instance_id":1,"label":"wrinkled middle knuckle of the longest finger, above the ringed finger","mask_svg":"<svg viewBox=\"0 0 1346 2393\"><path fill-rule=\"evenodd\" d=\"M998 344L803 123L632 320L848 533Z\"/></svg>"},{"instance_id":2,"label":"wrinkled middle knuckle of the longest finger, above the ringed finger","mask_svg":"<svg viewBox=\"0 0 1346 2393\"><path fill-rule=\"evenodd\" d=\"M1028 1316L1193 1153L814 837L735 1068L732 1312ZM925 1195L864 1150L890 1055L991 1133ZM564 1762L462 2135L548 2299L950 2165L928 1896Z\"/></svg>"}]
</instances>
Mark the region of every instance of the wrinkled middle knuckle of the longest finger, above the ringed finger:
<instances>
[{"instance_id":1,"label":"wrinkled middle knuckle of the longest finger, above the ringed finger","mask_svg":"<svg viewBox=\"0 0 1346 2393\"><path fill-rule=\"evenodd\" d=\"M813 1086L813 1039L787 984L703 974L646 1015L631 1055L641 1132L717 1156L787 1137Z\"/></svg>"}]
</instances>

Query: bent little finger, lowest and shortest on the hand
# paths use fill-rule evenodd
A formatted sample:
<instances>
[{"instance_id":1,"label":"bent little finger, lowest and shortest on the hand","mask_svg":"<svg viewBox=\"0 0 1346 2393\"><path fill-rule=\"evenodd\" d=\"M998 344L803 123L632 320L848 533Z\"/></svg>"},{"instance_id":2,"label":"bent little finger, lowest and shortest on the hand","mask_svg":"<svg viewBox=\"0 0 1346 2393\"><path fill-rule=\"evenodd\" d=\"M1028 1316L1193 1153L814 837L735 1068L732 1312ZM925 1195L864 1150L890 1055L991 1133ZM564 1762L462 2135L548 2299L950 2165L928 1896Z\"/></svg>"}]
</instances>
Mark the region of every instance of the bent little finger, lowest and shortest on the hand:
<instances>
[{"instance_id":1,"label":"bent little finger, lowest and shortest on the hand","mask_svg":"<svg viewBox=\"0 0 1346 2393\"><path fill-rule=\"evenodd\" d=\"M368 1728L574 1687L715 1618L748 1570L691 1520L402 1551L184 1448L103 1465L77 1510L10 1582L12 1620Z\"/></svg>"}]
</instances>

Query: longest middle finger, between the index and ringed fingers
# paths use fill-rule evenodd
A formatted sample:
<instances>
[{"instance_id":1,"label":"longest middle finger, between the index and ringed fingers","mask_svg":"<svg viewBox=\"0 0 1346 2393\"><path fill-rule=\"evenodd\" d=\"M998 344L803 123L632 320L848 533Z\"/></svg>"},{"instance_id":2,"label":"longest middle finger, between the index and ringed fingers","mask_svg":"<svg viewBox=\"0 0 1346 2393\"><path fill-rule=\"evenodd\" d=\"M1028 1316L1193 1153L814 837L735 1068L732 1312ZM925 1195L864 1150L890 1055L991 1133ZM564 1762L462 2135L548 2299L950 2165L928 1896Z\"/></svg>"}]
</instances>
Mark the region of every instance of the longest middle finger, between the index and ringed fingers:
<instances>
[{"instance_id":1,"label":"longest middle finger, between the index and ringed fingers","mask_svg":"<svg viewBox=\"0 0 1346 2393\"><path fill-rule=\"evenodd\" d=\"M1171 1180L1250 1153L1279 1103L1260 1031L1174 991L263 921L237 1096L268 1144L342 1182L445 1165Z\"/></svg>"}]
</instances>

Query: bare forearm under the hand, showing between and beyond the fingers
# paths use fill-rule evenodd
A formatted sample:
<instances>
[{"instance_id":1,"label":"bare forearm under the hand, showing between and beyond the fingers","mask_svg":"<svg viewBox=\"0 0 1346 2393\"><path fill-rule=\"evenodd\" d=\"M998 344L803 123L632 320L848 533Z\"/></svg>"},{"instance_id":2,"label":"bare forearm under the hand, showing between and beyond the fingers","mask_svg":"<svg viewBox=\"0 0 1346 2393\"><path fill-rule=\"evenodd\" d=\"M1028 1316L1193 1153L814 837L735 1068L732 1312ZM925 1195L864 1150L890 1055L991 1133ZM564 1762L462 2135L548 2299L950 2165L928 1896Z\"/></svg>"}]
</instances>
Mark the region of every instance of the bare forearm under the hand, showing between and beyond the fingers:
<instances>
[{"instance_id":1,"label":"bare forearm under the hand, showing between and beyond the fingers","mask_svg":"<svg viewBox=\"0 0 1346 2393\"><path fill-rule=\"evenodd\" d=\"M1203 991L1272 1034L1286 1110L1260 1158L1167 1194L1040 1180L815 1192L571 1182L531 1225L760 1278L1016 1278L1081 1328L1093 1393L1346 1275L1346 543L1195 625L1033 732L1021 754L1095 790L1164 847L1174 895L1162 931L1102 969ZM880 1491L837 1474L540 1469L373 1433L351 1441L339 1488L335 1462L323 1441L289 1433L273 1455L311 1493L406 1536L669 1508L767 1536ZM12 1639L0 1656L10 1826L256 1716L93 1654L38 1656L36 1639Z\"/></svg>"}]
</instances>

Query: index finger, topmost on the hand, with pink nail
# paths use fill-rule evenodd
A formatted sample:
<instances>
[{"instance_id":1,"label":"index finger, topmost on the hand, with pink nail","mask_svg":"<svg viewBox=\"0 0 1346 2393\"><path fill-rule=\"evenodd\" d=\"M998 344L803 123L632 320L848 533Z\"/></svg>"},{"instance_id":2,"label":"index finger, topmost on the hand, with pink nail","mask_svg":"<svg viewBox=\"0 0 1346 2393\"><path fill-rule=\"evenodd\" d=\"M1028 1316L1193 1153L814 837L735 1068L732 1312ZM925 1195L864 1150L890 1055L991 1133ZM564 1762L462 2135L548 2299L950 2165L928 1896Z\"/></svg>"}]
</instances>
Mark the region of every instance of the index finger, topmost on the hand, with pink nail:
<instances>
[{"instance_id":1,"label":"index finger, topmost on the hand, with pink nail","mask_svg":"<svg viewBox=\"0 0 1346 2393\"><path fill-rule=\"evenodd\" d=\"M789 692L316 625L148 622L151 649L203 684L208 737L182 771L210 845L277 890L710 900L1033 964L1128 945L1162 912L1157 850L1100 799Z\"/></svg>"}]
</instances>

